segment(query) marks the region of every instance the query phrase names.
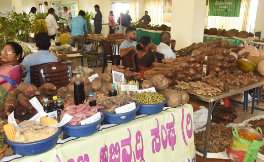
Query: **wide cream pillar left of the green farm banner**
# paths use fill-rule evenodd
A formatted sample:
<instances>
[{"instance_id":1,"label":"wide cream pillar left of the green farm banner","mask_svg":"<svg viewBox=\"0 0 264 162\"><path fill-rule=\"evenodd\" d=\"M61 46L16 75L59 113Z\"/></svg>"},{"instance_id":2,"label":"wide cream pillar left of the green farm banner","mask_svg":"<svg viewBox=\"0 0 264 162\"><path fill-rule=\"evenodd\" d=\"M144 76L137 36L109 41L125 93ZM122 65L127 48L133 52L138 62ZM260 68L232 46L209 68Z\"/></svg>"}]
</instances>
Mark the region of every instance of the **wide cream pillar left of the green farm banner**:
<instances>
[{"instance_id":1,"label":"wide cream pillar left of the green farm banner","mask_svg":"<svg viewBox=\"0 0 264 162\"><path fill-rule=\"evenodd\" d=\"M171 36L175 50L203 42L206 0L172 0Z\"/></svg>"}]
</instances>

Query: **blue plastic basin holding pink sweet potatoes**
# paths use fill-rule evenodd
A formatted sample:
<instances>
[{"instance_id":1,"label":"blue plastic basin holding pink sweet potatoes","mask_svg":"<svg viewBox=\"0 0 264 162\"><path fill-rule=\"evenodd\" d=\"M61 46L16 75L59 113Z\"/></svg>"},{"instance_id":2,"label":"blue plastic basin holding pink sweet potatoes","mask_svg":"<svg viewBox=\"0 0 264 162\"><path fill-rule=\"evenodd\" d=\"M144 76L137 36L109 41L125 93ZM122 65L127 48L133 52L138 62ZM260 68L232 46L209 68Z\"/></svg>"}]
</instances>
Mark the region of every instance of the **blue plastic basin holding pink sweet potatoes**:
<instances>
[{"instance_id":1,"label":"blue plastic basin holding pink sweet potatoes","mask_svg":"<svg viewBox=\"0 0 264 162\"><path fill-rule=\"evenodd\" d=\"M59 117L57 117L58 122L60 121ZM62 126L62 130L65 134L71 137L90 136L96 133L100 129L101 123L104 120L104 118L105 118L105 115L103 114L101 116L101 119L95 121L94 123L88 124L88 125L81 125L81 126L64 125Z\"/></svg>"}]
</instances>

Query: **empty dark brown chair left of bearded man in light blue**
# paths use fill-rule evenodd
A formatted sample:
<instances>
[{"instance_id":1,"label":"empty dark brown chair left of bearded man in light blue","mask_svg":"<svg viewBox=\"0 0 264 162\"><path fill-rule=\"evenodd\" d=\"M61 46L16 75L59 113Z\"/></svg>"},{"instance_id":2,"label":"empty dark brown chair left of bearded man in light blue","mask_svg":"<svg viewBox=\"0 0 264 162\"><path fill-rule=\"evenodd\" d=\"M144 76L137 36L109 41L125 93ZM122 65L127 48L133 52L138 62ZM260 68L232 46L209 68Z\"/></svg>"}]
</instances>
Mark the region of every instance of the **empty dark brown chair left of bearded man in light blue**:
<instances>
[{"instance_id":1,"label":"empty dark brown chair left of bearded man in light blue","mask_svg":"<svg viewBox=\"0 0 264 162\"><path fill-rule=\"evenodd\" d=\"M121 57L113 54L113 47L110 41L102 39L102 45L104 51L104 65L102 73L104 73L108 60L112 61L112 65L120 65Z\"/></svg>"}]
</instances>

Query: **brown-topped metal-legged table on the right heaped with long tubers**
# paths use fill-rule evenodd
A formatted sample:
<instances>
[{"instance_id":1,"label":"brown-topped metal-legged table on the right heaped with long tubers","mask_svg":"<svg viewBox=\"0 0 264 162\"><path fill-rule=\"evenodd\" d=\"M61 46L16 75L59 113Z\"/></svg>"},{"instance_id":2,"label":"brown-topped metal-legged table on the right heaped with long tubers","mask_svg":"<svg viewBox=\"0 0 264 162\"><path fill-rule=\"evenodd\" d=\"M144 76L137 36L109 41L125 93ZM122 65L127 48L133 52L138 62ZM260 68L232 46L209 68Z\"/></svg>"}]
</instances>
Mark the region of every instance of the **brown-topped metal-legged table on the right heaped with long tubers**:
<instances>
[{"instance_id":1,"label":"brown-topped metal-legged table on the right heaped with long tubers","mask_svg":"<svg viewBox=\"0 0 264 162\"><path fill-rule=\"evenodd\" d=\"M222 98L229 97L229 96L241 93L241 92L245 92L244 95L248 96L247 95L248 90L254 89L254 92L255 92L256 88L258 87L258 90L259 90L259 86L262 86L262 85L264 85L264 76L260 76L260 80L257 83L253 83L251 85L242 85L242 86L240 86L240 89L238 89L238 90L229 90L229 91L224 90L224 91L222 91L221 94L215 95L213 97L208 96L208 95L207 96L197 95L190 90L180 90L180 89L177 89L175 87L175 85L169 86L169 88L171 88L171 89L184 91L184 92L188 93L190 97L193 97L193 98L196 98L196 99L199 99L201 101L205 101L205 102L209 103L207 125L206 125L205 147L204 147L204 150L202 150L201 148L196 148L200 152L203 152L203 154L204 154L203 161L206 161L207 148L208 148L208 134L209 134L210 123L211 123L210 121L211 121L211 116L212 116L212 113L213 113L213 110L215 108L216 103L218 103ZM257 96L257 100L258 100L258 97L259 96ZM214 101L215 101L215 103L213 103ZM255 103L255 96L253 96L252 106L254 106L253 105L254 103ZM258 101L257 101L257 103L258 103ZM244 107L243 107L244 110L247 109L246 108L247 105L248 105L248 98L244 97ZM262 111L264 111L264 110L262 110Z\"/></svg>"}]
</instances>

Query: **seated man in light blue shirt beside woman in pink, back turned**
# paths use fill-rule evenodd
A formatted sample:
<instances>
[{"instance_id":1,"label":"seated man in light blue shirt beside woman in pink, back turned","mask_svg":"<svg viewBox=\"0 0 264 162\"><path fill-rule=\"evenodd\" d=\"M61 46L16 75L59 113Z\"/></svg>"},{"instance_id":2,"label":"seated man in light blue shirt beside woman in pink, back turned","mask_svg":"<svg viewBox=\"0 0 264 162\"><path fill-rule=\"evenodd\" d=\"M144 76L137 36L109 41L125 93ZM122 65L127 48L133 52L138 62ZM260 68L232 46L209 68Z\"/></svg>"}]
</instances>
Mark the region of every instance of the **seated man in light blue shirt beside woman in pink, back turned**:
<instances>
[{"instance_id":1,"label":"seated man in light blue shirt beside woman in pink, back turned","mask_svg":"<svg viewBox=\"0 0 264 162\"><path fill-rule=\"evenodd\" d=\"M30 84L30 66L48 62L57 62L58 59L49 52L50 36L46 32L38 33L35 37L38 52L27 55L21 64L25 65L23 73L26 74L24 83Z\"/></svg>"}]
</instances>

